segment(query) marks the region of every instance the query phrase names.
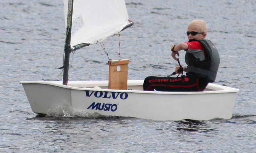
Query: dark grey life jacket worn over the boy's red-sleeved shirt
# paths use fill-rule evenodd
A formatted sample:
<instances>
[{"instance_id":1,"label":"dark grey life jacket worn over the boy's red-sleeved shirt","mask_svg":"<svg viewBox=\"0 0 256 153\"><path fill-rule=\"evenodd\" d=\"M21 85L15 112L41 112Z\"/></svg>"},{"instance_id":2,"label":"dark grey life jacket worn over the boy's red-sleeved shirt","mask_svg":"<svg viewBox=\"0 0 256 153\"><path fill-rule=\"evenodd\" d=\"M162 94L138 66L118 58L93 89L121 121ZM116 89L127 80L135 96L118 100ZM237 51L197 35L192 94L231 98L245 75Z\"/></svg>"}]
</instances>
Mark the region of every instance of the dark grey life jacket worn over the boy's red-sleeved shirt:
<instances>
[{"instance_id":1,"label":"dark grey life jacket worn over the boy's red-sleeved shirt","mask_svg":"<svg viewBox=\"0 0 256 153\"><path fill-rule=\"evenodd\" d=\"M218 50L210 40L189 40L188 42L190 41L199 41L204 46L205 56L202 57L202 50L188 49L185 55L188 73L193 73L207 82L214 82L220 65Z\"/></svg>"}]
</instances>

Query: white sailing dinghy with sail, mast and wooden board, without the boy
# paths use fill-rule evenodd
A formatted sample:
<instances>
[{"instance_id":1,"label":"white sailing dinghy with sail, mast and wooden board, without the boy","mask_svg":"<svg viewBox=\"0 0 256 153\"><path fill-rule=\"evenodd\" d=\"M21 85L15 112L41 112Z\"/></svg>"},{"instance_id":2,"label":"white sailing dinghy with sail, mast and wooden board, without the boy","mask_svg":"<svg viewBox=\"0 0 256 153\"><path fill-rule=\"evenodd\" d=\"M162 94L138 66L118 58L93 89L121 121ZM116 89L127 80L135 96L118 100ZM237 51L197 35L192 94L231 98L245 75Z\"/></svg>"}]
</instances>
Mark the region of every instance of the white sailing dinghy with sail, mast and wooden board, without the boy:
<instances>
[{"instance_id":1,"label":"white sailing dinghy with sail, mast and wooden board, without the boy","mask_svg":"<svg viewBox=\"0 0 256 153\"><path fill-rule=\"evenodd\" d=\"M129 60L125 59L108 62L109 80L68 81L72 51L101 42L133 23L124 0L64 0L64 10L68 19L63 81L20 81L34 113L148 120L232 117L238 89L208 84L199 92L143 91L144 80L127 80Z\"/></svg>"}]
</instances>

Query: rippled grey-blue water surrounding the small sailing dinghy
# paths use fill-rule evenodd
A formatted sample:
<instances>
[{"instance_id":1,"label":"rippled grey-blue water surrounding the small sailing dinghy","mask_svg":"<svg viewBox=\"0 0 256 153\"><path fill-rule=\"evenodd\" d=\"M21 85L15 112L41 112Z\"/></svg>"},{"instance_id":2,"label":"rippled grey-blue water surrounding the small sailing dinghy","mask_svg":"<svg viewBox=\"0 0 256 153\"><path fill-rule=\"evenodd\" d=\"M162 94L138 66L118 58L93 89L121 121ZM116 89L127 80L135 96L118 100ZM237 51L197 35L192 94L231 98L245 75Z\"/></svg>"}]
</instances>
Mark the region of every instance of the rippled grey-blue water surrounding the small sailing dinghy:
<instances>
[{"instance_id":1,"label":"rippled grey-blue water surrounding the small sailing dinghy","mask_svg":"<svg viewBox=\"0 0 256 153\"><path fill-rule=\"evenodd\" d=\"M127 0L134 25L104 44L111 59L130 59L129 79L166 76L177 65L172 44L203 19L219 50L216 84L239 88L233 117L210 121L37 117L19 81L62 80L65 40L61 0L0 2L0 152L255 152L256 2ZM180 52L181 64L184 52ZM108 79L98 45L71 56L70 80Z\"/></svg>"}]
</instances>

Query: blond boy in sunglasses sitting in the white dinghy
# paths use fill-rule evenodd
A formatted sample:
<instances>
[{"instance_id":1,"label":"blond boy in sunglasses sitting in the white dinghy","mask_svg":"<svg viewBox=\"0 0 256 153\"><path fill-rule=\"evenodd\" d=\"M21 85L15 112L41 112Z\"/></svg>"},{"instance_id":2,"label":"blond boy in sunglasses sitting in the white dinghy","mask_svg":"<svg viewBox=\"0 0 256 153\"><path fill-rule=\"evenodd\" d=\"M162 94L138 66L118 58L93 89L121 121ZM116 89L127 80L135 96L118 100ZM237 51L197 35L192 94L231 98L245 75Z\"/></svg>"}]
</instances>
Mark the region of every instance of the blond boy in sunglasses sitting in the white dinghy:
<instances>
[{"instance_id":1,"label":"blond boy in sunglasses sitting in the white dinghy","mask_svg":"<svg viewBox=\"0 0 256 153\"><path fill-rule=\"evenodd\" d=\"M188 42L173 45L172 57L178 61L176 55L185 50L185 62L188 67L182 67L187 72L181 77L145 78L143 89L148 91L204 91L209 82L214 82L220 64L217 49L210 40L205 40L207 26L203 20L194 20L188 24ZM182 73L177 66L175 72Z\"/></svg>"}]
</instances>

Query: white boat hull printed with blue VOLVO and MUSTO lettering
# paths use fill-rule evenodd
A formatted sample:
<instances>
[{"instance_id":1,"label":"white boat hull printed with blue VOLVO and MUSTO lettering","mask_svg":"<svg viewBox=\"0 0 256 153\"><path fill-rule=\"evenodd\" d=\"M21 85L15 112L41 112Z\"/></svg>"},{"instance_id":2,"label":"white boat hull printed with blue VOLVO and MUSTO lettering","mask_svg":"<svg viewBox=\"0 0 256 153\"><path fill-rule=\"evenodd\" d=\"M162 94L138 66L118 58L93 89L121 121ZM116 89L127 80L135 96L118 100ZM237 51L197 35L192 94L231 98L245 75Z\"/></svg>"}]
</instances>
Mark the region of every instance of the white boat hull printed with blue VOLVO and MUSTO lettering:
<instances>
[{"instance_id":1,"label":"white boat hull printed with blue VOLVO and MUSTO lettering","mask_svg":"<svg viewBox=\"0 0 256 153\"><path fill-rule=\"evenodd\" d=\"M143 91L143 80L128 80L128 90L110 90L108 81L69 81L67 86L59 81L20 83L37 114L99 113L149 120L230 119L239 91L216 84L199 92Z\"/></svg>"}]
</instances>

